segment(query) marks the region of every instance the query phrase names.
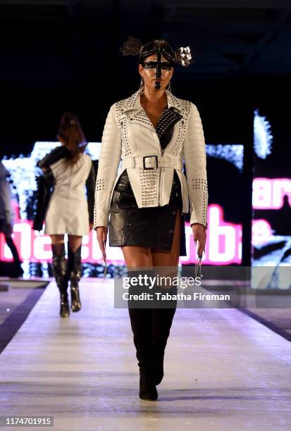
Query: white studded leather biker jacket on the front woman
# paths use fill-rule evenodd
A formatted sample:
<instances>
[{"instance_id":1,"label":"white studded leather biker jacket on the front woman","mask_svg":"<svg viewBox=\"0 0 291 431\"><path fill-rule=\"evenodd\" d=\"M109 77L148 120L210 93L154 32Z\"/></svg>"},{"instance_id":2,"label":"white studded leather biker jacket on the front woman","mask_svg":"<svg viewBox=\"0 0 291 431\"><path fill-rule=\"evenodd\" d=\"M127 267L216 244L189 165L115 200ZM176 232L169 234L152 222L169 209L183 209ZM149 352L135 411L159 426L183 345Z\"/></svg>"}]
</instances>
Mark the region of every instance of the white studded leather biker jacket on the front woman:
<instances>
[{"instance_id":1,"label":"white studded leather biker jacket on the front woman","mask_svg":"<svg viewBox=\"0 0 291 431\"><path fill-rule=\"evenodd\" d=\"M175 169L181 182L182 212L190 211L191 224L207 227L206 153L201 118L190 101L178 99L168 90L166 96L168 108L182 118L175 123L173 137L163 150L140 104L140 90L111 106L99 156L94 229L109 225L113 189L125 169L139 208L168 204ZM182 172L183 161L187 178Z\"/></svg>"}]
</instances>

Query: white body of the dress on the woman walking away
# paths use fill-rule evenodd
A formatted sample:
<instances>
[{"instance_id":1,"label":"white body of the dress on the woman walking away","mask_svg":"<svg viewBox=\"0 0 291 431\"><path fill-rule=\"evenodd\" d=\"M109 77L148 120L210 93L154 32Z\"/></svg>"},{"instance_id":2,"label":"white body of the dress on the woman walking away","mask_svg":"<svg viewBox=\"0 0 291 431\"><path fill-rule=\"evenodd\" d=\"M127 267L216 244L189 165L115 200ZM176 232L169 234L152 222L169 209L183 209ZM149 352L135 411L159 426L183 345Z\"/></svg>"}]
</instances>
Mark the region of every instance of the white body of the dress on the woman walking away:
<instances>
[{"instance_id":1,"label":"white body of the dress on the woman walking away","mask_svg":"<svg viewBox=\"0 0 291 431\"><path fill-rule=\"evenodd\" d=\"M45 217L48 235L88 235L89 211L85 195L85 182L92 167L87 154L71 166L65 158L49 166L54 174L54 192Z\"/></svg>"}]
</instances>

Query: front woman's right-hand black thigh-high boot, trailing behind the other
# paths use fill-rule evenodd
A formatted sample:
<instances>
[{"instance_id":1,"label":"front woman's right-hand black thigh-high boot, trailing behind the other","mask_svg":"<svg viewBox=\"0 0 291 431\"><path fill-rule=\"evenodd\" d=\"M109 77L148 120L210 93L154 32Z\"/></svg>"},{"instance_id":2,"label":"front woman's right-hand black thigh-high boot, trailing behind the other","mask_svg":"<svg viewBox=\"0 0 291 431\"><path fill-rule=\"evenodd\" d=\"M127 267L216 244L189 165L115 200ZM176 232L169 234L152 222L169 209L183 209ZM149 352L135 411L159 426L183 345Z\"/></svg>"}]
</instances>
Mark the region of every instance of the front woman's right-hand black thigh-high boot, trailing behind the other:
<instances>
[{"instance_id":1,"label":"front woman's right-hand black thigh-high boot, trailing behind the other","mask_svg":"<svg viewBox=\"0 0 291 431\"><path fill-rule=\"evenodd\" d=\"M171 289L154 288L155 292L171 295L177 294L176 287ZM175 297L175 296L173 296ZM152 346L154 354L154 370L155 370L155 384L159 385L163 380L163 358L165 354L168 336L170 335L173 317L175 315L177 301L170 299L168 301L161 301L164 308L152 309Z\"/></svg>"}]
</instances>

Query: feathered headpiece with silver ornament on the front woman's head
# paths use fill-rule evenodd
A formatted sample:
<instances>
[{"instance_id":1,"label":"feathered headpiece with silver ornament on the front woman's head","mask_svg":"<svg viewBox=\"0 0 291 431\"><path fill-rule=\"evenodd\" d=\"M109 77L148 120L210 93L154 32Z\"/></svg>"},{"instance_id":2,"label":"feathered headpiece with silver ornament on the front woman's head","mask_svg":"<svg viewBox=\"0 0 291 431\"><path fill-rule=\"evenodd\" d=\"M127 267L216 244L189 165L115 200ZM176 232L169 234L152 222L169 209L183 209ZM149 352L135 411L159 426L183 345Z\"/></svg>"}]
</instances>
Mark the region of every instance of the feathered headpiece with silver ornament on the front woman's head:
<instances>
[{"instance_id":1,"label":"feathered headpiece with silver ornament on the front woman's head","mask_svg":"<svg viewBox=\"0 0 291 431\"><path fill-rule=\"evenodd\" d=\"M135 37L129 36L128 40L123 42L123 47L120 48L120 51L124 56L140 55L140 59L143 59L151 56L151 54L154 54L158 49L160 49L163 56L173 64L178 63L187 67L194 63L190 46L186 46L185 48L181 46L174 51L166 40L160 39L154 39L152 42L143 45L142 42L140 42L140 39L135 39Z\"/></svg>"}]
</instances>

